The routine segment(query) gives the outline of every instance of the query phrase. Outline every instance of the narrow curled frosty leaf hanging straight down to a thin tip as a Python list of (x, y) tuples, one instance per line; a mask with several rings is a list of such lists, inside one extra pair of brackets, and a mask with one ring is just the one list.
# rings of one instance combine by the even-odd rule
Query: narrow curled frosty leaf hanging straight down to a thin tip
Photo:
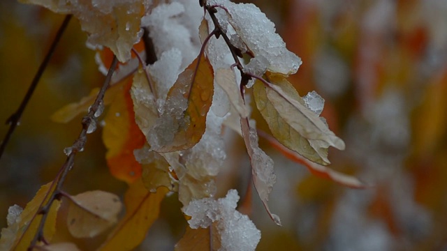
[(273, 172), (273, 160), (258, 146), (258, 134), (254, 128), (250, 128), (248, 119), (240, 119), (242, 137), (244, 138), (247, 153), (249, 153), (253, 183), (259, 198), (263, 201), (265, 210), (277, 225), (281, 225), (278, 215), (270, 212), (268, 207), (268, 195), (272, 192), (277, 176)]

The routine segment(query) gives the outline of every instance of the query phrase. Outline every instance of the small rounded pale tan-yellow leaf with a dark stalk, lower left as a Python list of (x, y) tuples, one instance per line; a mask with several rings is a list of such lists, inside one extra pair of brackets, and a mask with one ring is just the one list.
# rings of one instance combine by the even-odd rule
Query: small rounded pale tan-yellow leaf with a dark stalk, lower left
[(71, 199), (67, 226), (70, 234), (76, 238), (101, 234), (117, 222), (117, 215), (122, 209), (119, 197), (110, 192), (83, 192)]

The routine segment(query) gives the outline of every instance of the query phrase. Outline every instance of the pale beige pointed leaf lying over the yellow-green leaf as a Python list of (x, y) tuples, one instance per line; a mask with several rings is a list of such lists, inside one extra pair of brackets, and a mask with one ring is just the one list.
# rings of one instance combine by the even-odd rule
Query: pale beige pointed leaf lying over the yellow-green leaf
[[(260, 111), (268, 109), (269, 107), (270, 109), (274, 108), (276, 112), (272, 112), (272, 114), (277, 113), (278, 117), (281, 117), (281, 119), (283, 119), (288, 126), (290, 126), (290, 128), (293, 128), (293, 130), (298, 132), (302, 137), (305, 137), (305, 139), (316, 141), (312, 144), (314, 150), (317, 152), (318, 148), (321, 148), (321, 146), (324, 148), (326, 145), (334, 146), (339, 150), (344, 150), (345, 146), (343, 140), (337, 137), (334, 132), (329, 130), (328, 126), (320, 119), (318, 115), (302, 105), (297, 98), (294, 98), (284, 91), (282, 86), (290, 85), (286, 78), (281, 75), (270, 75), (270, 82), (273, 84), (265, 83), (265, 96), (267, 99), (263, 100), (258, 98), (258, 102), (256, 103)], [(260, 90), (258, 89), (258, 91)], [(270, 103), (271, 106), (268, 107), (268, 103)], [(270, 111), (268, 114), (269, 113)], [(273, 128), (276, 129), (279, 127), (273, 126)], [(285, 133), (285, 135), (287, 135), (287, 133)]]

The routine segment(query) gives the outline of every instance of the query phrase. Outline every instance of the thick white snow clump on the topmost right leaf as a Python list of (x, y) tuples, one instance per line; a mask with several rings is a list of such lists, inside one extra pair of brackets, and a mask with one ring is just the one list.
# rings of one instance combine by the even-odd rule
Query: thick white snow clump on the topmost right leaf
[[(255, 57), (244, 67), (246, 72), (258, 76), (267, 70), (284, 75), (296, 73), (301, 59), (286, 49), (286, 43), (276, 33), (274, 24), (258, 7), (251, 3), (237, 4), (227, 0), (208, 1), (208, 4), (226, 7), (228, 22), (253, 52)], [(244, 47), (240, 49), (244, 51)]]

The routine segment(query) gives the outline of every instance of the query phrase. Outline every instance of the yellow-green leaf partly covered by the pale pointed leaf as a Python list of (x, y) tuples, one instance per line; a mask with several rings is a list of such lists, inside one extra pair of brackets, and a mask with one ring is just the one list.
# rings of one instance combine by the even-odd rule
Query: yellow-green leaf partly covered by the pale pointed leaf
[[(284, 93), (290, 98), (297, 100), (302, 104), (302, 98), (298, 95), (298, 92), (287, 81), (275, 82)], [(328, 165), (328, 145), (321, 146), (321, 140), (306, 139), (300, 135), (300, 132), (291, 127), (285, 120), (284, 116), (295, 116), (296, 109), (291, 109), (288, 114), (279, 112), (274, 103), (270, 101), (267, 96), (268, 87), (265, 87), (261, 81), (256, 81), (253, 86), (254, 100), (256, 107), (261, 112), (263, 118), (267, 122), (272, 135), (278, 139), (281, 144), (288, 147), (297, 153), (300, 153), (305, 158), (317, 162), (322, 165)], [(286, 102), (283, 100), (283, 102)], [(307, 109), (307, 108), (306, 108)], [(325, 146), (325, 147), (324, 147)]]

